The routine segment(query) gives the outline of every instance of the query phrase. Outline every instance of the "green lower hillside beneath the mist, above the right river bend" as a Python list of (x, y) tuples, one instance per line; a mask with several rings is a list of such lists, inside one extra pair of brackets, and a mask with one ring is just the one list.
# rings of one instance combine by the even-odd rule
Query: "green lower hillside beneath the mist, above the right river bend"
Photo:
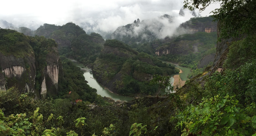
[[(204, 56), (216, 53), (216, 42), (217, 32), (196, 32), (194, 34), (183, 34), (174, 38), (156, 40), (152, 44), (153, 46), (158, 46), (156, 54), (159, 59), (178, 63), (180, 66), (199, 71), (196, 69), (200, 60)], [(208, 62), (208, 65), (212, 64), (214, 56), (210, 60), (211, 62)]]

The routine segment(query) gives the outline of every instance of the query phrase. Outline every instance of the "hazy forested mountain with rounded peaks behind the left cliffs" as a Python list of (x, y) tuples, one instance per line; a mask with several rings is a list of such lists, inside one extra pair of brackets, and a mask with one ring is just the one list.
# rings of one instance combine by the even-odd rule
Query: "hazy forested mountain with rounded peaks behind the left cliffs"
[(54, 39), (61, 55), (79, 60), (85, 65), (95, 61), (105, 42), (99, 34), (88, 35), (72, 22), (63, 26), (44, 24), (34, 31), (34, 35)]

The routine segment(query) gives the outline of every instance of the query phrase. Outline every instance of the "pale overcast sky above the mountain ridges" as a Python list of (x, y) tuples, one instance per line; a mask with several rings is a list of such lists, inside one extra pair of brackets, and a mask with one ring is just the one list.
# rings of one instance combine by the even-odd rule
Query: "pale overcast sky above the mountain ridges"
[[(183, 0), (1, 0), (0, 20), (32, 30), (44, 23), (76, 23), (85, 31), (114, 31), (118, 26), (164, 14), (178, 15)], [(201, 12), (209, 16), (215, 5)], [(181, 20), (192, 17), (186, 15)], [(0, 23), (0, 27), (5, 28)]]

